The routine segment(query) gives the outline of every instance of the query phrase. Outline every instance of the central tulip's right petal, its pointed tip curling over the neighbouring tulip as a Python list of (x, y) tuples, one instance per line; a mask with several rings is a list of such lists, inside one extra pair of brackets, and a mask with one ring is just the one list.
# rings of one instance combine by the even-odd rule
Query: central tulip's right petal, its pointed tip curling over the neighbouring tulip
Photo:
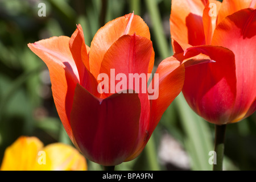
[(150, 100), (151, 113), (149, 127), (146, 131), (147, 135), (144, 138), (144, 142), (137, 147), (137, 150), (130, 156), (129, 160), (141, 154), (164, 111), (181, 92), (185, 78), (185, 68), (195, 64), (208, 63), (209, 61), (209, 56), (206, 55), (199, 54), (194, 57), (185, 57), (183, 53), (179, 53), (168, 57), (159, 64), (155, 73), (158, 74), (158, 79), (155, 75), (149, 86), (149, 88), (158, 86), (158, 90), (155, 89), (155, 95), (152, 97), (154, 99)]

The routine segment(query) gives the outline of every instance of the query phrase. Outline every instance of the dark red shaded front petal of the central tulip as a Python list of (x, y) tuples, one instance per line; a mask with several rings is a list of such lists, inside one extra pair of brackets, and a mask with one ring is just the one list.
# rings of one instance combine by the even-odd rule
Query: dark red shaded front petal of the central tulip
[(71, 127), (86, 158), (104, 166), (115, 166), (134, 150), (140, 114), (136, 93), (116, 93), (99, 100), (77, 84)]

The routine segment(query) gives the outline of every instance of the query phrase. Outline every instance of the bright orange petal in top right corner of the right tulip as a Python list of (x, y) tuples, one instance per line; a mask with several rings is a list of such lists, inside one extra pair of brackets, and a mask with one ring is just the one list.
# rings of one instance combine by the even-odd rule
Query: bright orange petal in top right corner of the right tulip
[(248, 7), (256, 8), (255, 0), (224, 0), (218, 13), (217, 24), (219, 24), (226, 16)]

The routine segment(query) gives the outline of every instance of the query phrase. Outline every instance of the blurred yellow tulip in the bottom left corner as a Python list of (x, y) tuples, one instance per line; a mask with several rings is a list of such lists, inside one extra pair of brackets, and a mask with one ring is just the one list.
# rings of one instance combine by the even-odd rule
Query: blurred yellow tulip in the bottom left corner
[(63, 143), (44, 144), (36, 137), (19, 137), (7, 147), (1, 171), (84, 171), (84, 156)]

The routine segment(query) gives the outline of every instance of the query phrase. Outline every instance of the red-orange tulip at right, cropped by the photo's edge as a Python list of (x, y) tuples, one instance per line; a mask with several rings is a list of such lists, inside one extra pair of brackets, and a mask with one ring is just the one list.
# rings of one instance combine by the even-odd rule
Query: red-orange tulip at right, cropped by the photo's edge
[(172, 1), (175, 53), (216, 63), (186, 68), (183, 94), (201, 117), (222, 125), (256, 110), (256, 1)]

